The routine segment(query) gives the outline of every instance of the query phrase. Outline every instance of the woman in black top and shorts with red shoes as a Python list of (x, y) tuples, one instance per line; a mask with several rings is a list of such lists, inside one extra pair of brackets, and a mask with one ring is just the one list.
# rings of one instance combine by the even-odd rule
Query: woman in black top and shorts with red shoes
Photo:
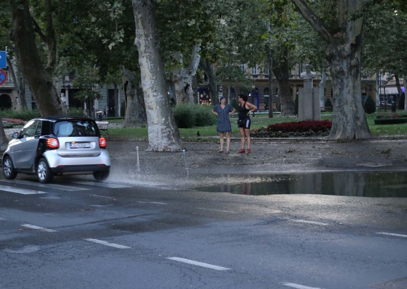
[(245, 138), (247, 141), (247, 151), (250, 154), (250, 112), (257, 110), (257, 107), (250, 102), (247, 102), (247, 95), (240, 94), (238, 96), (238, 127), (240, 132), (240, 142), (242, 148), (238, 151), (239, 154), (245, 153)]

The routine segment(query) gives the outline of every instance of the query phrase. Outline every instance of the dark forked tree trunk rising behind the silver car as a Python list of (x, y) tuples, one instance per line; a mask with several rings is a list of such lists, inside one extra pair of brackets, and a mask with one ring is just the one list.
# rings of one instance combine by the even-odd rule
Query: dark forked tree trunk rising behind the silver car
[[(46, 3), (49, 3), (46, 1)], [(47, 67), (41, 62), (34, 36), (33, 18), (26, 0), (10, 0), (12, 7), (11, 39), (15, 44), (15, 52), (21, 61), (21, 72), (24, 75), (41, 115), (64, 114), (59, 92), (53, 82), (54, 57), (56, 57), (56, 38), (52, 21), (47, 21), (48, 46)], [(47, 8), (49, 8), (47, 6)], [(49, 15), (48, 15), (49, 16)]]

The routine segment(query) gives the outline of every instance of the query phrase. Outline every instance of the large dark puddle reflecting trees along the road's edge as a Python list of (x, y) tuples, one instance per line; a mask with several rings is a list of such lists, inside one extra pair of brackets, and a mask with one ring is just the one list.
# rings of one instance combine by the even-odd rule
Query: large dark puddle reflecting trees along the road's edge
[(195, 188), (246, 195), (322, 194), (407, 197), (407, 172), (307, 172), (303, 174), (223, 175), (223, 184)]

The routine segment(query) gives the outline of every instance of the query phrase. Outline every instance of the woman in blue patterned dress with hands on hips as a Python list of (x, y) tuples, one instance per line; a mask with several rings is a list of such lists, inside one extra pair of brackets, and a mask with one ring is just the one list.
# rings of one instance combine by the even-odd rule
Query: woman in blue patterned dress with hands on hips
[(212, 113), (218, 116), (218, 124), (216, 130), (219, 132), (220, 150), (218, 153), (223, 153), (223, 138), (226, 135), (226, 151), (229, 153), (230, 146), (230, 132), (232, 131), (232, 125), (230, 124), (229, 115), (234, 114), (236, 109), (230, 104), (226, 103), (226, 98), (222, 96), (220, 98), (220, 104), (215, 105), (212, 109)]

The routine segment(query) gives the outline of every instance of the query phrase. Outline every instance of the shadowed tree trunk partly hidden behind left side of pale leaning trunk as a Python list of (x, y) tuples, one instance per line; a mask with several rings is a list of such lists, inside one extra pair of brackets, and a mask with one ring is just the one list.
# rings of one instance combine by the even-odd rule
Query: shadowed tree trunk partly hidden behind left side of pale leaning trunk
[(132, 71), (122, 67), (122, 80), (126, 97), (124, 125), (146, 124), (146, 107), (144, 107), (142, 90), (138, 90), (140, 84), (139, 77), (136, 77)]

